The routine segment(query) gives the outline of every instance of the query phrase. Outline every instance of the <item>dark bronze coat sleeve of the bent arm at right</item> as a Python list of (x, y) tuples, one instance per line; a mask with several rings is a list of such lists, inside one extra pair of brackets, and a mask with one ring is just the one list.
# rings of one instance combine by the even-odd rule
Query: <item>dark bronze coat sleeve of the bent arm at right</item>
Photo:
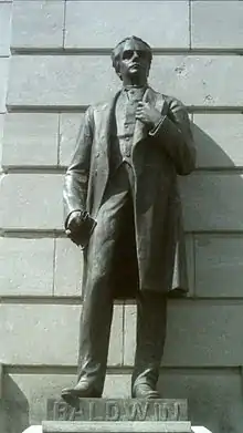
[[(167, 102), (166, 102), (167, 103)], [(149, 135), (156, 137), (169, 154), (179, 175), (190, 174), (196, 166), (196, 148), (188, 112), (183, 104), (172, 99), (168, 112)]]

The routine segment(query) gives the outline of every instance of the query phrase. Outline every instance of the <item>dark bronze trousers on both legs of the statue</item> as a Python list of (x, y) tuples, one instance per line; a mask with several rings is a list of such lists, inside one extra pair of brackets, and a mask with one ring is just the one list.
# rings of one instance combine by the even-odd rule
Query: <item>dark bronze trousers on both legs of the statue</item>
[[(77, 380), (87, 381), (99, 395), (104, 389), (114, 307), (109, 269), (120, 225), (128, 209), (133, 212), (134, 190), (133, 168), (124, 162), (107, 183), (97, 225), (89, 239)], [(167, 300), (163, 293), (142, 288), (137, 291), (136, 300), (137, 332), (131, 389), (139, 383), (155, 388), (166, 339)]]

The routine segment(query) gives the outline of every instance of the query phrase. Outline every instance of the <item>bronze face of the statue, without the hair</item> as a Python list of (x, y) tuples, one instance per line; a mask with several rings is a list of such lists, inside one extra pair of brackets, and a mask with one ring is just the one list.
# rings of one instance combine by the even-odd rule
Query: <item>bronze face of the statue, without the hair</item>
[(125, 42), (124, 50), (120, 52), (119, 75), (123, 81), (126, 78), (133, 78), (139, 82), (147, 81), (149, 74), (149, 58), (145, 45), (134, 39)]

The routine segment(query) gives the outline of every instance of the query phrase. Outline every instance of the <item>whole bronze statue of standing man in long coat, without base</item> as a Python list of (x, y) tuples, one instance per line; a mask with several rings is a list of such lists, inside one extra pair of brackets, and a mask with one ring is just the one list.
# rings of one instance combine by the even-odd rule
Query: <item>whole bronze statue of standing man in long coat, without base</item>
[(136, 37), (113, 50), (123, 87), (113, 101), (87, 109), (65, 176), (65, 228), (83, 247), (85, 274), (78, 380), (62, 391), (67, 401), (103, 393), (114, 290), (126, 259), (133, 261), (127, 285), (133, 281), (137, 298), (131, 395), (159, 398), (166, 298), (180, 231), (177, 175), (191, 173), (196, 156), (184, 106), (148, 85), (151, 58)]

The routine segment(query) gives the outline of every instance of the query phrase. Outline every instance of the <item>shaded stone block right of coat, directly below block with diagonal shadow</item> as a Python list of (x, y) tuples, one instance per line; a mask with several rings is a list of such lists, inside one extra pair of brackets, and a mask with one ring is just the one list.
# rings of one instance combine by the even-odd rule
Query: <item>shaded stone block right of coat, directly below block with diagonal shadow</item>
[(242, 175), (198, 172), (180, 186), (187, 231), (243, 229)]

